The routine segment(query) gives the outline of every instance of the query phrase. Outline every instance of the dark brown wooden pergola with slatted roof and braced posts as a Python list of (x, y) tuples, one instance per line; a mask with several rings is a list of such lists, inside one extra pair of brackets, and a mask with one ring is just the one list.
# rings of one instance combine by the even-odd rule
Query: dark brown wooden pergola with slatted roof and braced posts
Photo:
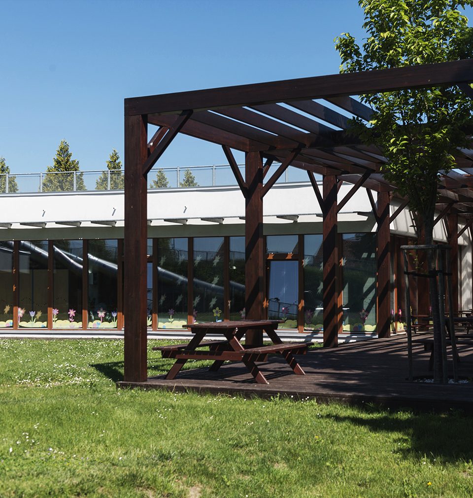
[[(388, 337), (389, 224), (408, 205), (408, 199), (402, 199), (390, 214), (395, 185), (380, 173), (386, 161), (382, 151), (350, 135), (348, 118), (340, 110), (368, 121), (371, 110), (352, 96), (458, 85), (473, 97), (470, 82), (473, 60), (461, 60), (125, 99), (124, 380), (147, 379), (147, 174), (178, 133), (221, 145), (245, 198), (248, 319), (262, 319), (265, 313), (264, 196), (288, 166), (307, 171), (323, 213), (324, 346), (334, 347), (342, 331), (337, 213), (359, 187), (366, 187), (377, 223), (377, 331), (379, 337)], [(158, 126), (149, 141), (148, 124)], [(245, 152), (245, 178), (232, 149)], [(273, 162), (280, 166), (268, 178)], [(451, 171), (441, 179), (436, 222), (449, 215), (454, 246), (473, 222), (472, 162), (472, 149), (459, 150), (457, 166), (462, 172)], [(322, 192), (315, 173), (323, 176)], [(353, 187), (338, 202), (342, 182)], [(377, 192), (376, 200), (371, 191)], [(457, 234), (459, 216), (466, 224)], [(246, 335), (247, 344), (261, 342), (260, 333)]]

